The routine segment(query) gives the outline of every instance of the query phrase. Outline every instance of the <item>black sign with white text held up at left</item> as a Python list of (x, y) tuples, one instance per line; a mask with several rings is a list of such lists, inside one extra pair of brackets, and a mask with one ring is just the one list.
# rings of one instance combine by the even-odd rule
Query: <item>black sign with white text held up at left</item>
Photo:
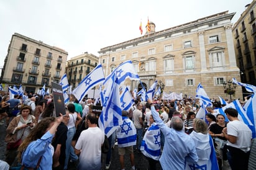
[(55, 108), (56, 117), (59, 117), (60, 114), (65, 115), (65, 103), (62, 91), (62, 85), (52, 82), (52, 95), (53, 103)]

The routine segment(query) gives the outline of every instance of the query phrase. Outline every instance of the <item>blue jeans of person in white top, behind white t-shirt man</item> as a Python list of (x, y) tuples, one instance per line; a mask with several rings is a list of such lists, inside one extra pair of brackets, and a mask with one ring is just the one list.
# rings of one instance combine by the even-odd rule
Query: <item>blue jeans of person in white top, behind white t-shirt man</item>
[(73, 136), (76, 133), (76, 128), (75, 127), (71, 127), (68, 129), (68, 133), (66, 134), (66, 158), (65, 158), (65, 166), (64, 169), (68, 168), (68, 160), (69, 158), (72, 161), (76, 161), (78, 160), (78, 156), (75, 154), (75, 150), (73, 148), (73, 146), (71, 145), (71, 141)]

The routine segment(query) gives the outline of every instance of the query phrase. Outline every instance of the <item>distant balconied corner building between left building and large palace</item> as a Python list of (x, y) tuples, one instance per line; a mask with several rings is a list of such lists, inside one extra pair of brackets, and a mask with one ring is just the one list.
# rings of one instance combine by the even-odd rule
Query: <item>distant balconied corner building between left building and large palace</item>
[(99, 57), (88, 52), (74, 56), (66, 63), (66, 75), (72, 87), (76, 87), (99, 63)]

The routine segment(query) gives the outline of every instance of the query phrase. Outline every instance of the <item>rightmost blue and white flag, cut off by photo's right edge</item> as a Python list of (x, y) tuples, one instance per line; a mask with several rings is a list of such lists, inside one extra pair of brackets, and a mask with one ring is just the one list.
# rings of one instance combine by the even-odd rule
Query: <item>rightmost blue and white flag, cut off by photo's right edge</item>
[[(245, 89), (248, 92), (253, 92), (250, 99), (245, 103), (243, 108), (245, 109), (246, 115), (249, 117), (250, 121), (252, 122), (252, 125), (247, 124), (247, 126), (252, 130), (252, 138), (256, 137), (256, 86), (253, 86), (251, 84), (245, 84), (238, 82), (235, 78), (232, 79), (233, 83), (238, 84), (239, 86), (244, 86)], [(246, 123), (245, 123), (246, 124)]]

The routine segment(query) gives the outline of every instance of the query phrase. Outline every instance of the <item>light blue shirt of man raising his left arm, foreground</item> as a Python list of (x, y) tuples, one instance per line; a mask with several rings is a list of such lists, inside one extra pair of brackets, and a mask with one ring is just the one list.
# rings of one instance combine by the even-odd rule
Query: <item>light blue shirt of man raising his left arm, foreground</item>
[(198, 155), (193, 139), (183, 130), (177, 131), (167, 127), (160, 119), (155, 107), (151, 106), (153, 119), (158, 124), (161, 132), (165, 136), (163, 153), (159, 159), (160, 164), (165, 169), (185, 169), (185, 161), (197, 163)]

